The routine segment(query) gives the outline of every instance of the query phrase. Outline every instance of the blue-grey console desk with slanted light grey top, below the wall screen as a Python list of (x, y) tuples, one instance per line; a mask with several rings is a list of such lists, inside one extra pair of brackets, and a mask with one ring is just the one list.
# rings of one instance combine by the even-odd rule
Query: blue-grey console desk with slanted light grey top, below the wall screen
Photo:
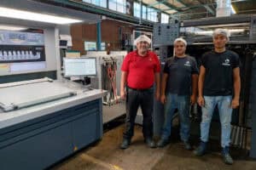
[(102, 139), (106, 91), (48, 78), (6, 85), (0, 88), (1, 169), (43, 169)]

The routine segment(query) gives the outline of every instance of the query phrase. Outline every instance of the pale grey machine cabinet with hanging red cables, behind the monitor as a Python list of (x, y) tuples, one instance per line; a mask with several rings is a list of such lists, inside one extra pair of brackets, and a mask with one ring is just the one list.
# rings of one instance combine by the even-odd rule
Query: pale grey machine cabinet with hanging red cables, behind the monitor
[(108, 123), (125, 115), (125, 103), (119, 97), (121, 65), (126, 51), (90, 51), (82, 57), (96, 58), (97, 77), (90, 78), (91, 88), (108, 91), (103, 102), (103, 123)]

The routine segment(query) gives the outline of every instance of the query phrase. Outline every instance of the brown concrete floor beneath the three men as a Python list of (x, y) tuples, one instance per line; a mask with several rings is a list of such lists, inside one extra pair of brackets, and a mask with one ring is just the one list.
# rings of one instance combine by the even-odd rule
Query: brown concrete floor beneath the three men
[[(104, 133), (100, 142), (79, 151), (61, 161), (52, 170), (255, 170), (256, 161), (247, 158), (245, 150), (233, 148), (231, 155), (235, 163), (225, 165), (220, 155), (218, 141), (210, 142), (210, 152), (196, 157), (192, 151), (184, 150), (178, 135), (165, 148), (150, 149), (143, 143), (142, 127), (136, 126), (130, 148), (120, 150), (124, 124)], [(177, 130), (176, 130), (177, 131)], [(173, 131), (175, 132), (175, 131)], [(192, 139), (197, 141), (197, 137)], [(195, 146), (194, 142), (194, 146)]]

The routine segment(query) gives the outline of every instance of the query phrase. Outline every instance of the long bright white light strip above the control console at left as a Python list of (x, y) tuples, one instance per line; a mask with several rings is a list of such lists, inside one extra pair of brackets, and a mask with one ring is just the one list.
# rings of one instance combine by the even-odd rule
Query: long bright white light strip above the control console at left
[(3, 8), (0, 7), (0, 16), (21, 20), (35, 20), (39, 22), (47, 22), (52, 24), (73, 24), (77, 22), (82, 22), (82, 20), (74, 20), (70, 18), (54, 16), (49, 14), (39, 14), (28, 12), (25, 10), (19, 10), (14, 8)]

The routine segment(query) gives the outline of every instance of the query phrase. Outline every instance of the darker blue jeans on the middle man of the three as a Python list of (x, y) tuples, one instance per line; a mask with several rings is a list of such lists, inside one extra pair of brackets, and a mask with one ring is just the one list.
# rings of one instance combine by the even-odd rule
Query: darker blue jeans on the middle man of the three
[(189, 95), (166, 94), (165, 122), (162, 128), (162, 139), (168, 139), (172, 131), (172, 116), (177, 109), (180, 118), (180, 137), (183, 141), (189, 140)]

